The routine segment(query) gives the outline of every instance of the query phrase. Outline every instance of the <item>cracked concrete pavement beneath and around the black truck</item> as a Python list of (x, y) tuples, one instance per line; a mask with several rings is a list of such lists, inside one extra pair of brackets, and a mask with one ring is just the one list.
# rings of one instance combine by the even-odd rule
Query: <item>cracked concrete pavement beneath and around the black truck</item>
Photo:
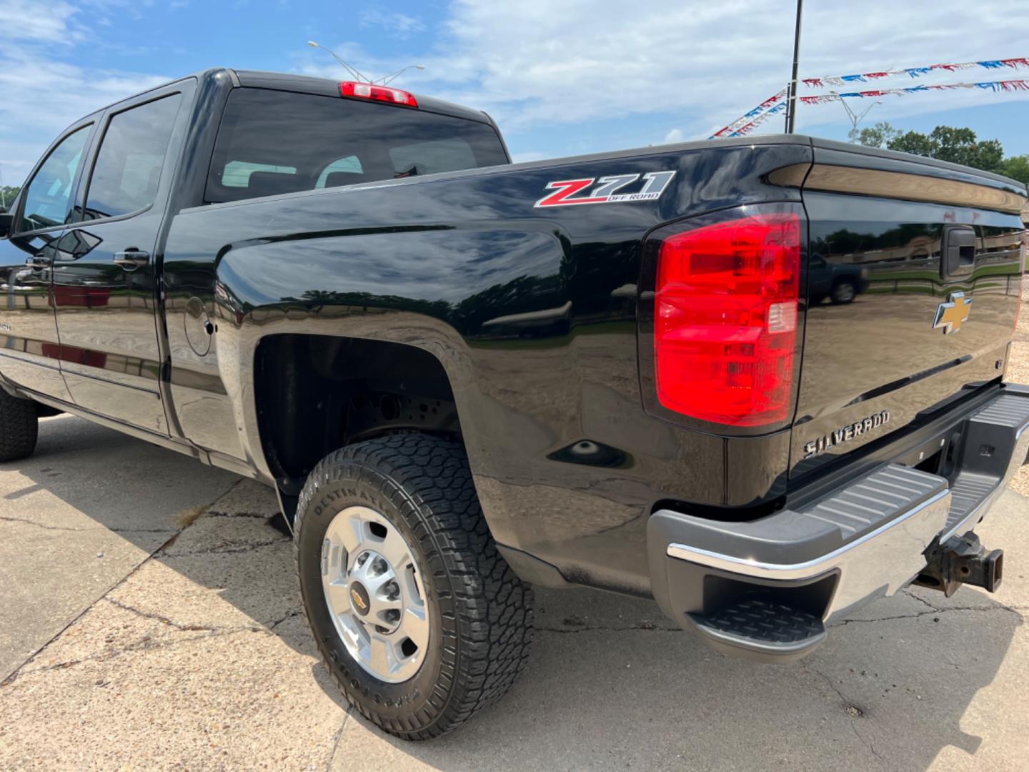
[(878, 601), (794, 665), (714, 654), (649, 602), (538, 591), (525, 677), (421, 744), (346, 709), (300, 615), (289, 540), (268, 525), (275, 508), (254, 483), (79, 419), (44, 421), (38, 454), (0, 468), (0, 769), (1029, 760), (1029, 499), (1013, 491), (978, 529), (1005, 550), (997, 595)]

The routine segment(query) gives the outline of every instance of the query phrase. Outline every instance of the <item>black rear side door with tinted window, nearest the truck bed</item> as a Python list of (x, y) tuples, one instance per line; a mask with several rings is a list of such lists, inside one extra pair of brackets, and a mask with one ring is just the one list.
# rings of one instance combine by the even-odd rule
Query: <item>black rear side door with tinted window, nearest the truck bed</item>
[[(105, 115), (54, 261), (61, 370), (75, 402), (168, 434), (161, 397), (155, 249), (174, 176), (182, 84)], [(181, 128), (181, 127), (180, 127)]]

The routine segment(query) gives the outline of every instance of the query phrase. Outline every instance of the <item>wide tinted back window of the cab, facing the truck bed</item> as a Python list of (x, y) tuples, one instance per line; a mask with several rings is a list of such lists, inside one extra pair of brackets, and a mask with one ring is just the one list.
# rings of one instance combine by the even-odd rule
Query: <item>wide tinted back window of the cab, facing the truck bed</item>
[(341, 97), (236, 89), (218, 130), (205, 201), (506, 163), (489, 124)]

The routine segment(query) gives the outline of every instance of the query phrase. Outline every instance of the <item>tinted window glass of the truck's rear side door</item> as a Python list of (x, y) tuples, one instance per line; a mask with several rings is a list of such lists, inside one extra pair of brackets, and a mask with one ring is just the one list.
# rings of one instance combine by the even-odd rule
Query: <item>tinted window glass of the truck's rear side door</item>
[(181, 99), (165, 97), (111, 118), (93, 168), (84, 219), (117, 217), (153, 203)]

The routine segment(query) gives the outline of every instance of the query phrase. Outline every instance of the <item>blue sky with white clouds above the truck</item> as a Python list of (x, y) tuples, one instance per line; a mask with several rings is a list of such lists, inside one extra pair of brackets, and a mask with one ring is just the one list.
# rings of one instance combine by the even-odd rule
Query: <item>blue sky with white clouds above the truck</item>
[[(1029, 57), (1029, 0), (808, 0), (802, 77)], [(65, 126), (214, 65), (339, 77), (310, 38), (396, 85), (489, 111), (516, 160), (707, 137), (789, 77), (793, 0), (0, 0), (0, 173), (19, 183)], [(967, 70), (920, 80), (1024, 78)], [(864, 87), (912, 84), (903, 78)], [(805, 90), (813, 95), (825, 90)], [(1029, 152), (1029, 92), (885, 97), (866, 120), (969, 126)], [(866, 106), (855, 104), (855, 107)], [(839, 104), (797, 130), (845, 138)], [(761, 132), (778, 132), (769, 120)]]

